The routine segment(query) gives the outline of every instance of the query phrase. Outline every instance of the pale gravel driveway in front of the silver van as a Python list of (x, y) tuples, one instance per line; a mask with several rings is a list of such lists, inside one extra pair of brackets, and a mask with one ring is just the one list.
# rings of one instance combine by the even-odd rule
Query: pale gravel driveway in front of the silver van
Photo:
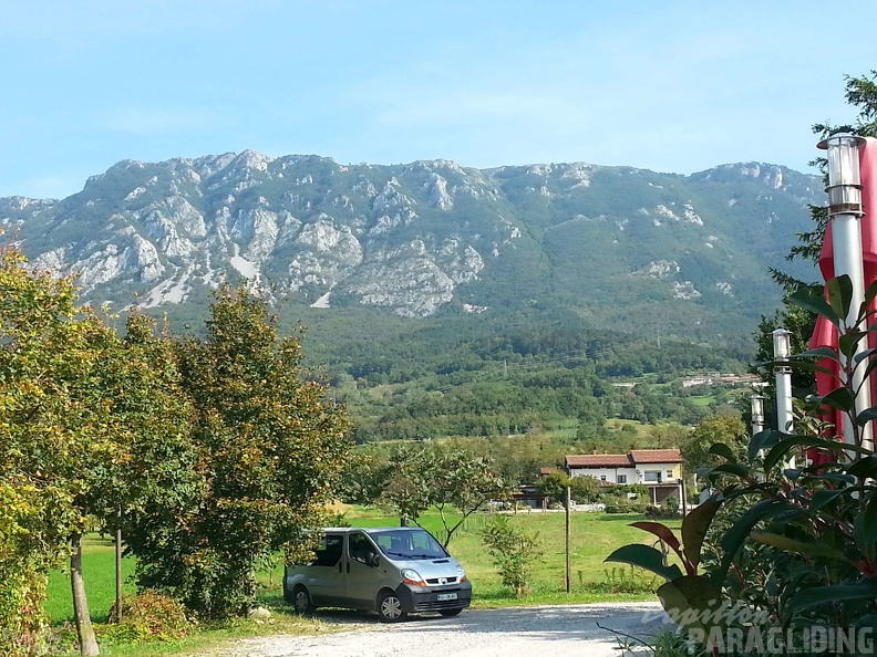
[[(612, 629), (649, 638), (663, 627), (657, 603), (606, 603), (464, 611), (456, 618), (420, 616), (383, 625), (372, 615), (319, 614), (351, 628), (319, 636), (241, 639), (235, 657), (618, 657)], [(603, 628), (598, 627), (601, 625)]]

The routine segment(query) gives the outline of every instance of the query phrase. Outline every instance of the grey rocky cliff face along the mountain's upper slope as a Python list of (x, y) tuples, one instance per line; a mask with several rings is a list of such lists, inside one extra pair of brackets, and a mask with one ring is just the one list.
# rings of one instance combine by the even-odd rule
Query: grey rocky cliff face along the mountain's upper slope
[[(766, 281), (821, 198), (814, 176), (759, 164), (683, 177), (248, 150), (121, 161), (63, 200), (0, 199), (0, 223), (19, 227), (34, 267), (79, 272), (84, 298), (117, 307), (184, 303), (243, 277), (316, 307), (422, 317), (544, 295), (587, 307), (611, 290), (729, 299)], [(582, 278), (601, 290), (590, 300)]]

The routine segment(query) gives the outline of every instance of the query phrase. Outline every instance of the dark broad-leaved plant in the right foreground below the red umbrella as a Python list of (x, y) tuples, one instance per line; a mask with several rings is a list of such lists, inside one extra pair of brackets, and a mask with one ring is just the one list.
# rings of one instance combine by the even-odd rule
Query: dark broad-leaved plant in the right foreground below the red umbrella
[[(791, 365), (832, 374), (836, 387), (806, 400), (808, 415), (799, 423), (799, 434), (762, 431), (743, 455), (725, 444), (713, 445), (710, 451), (722, 462), (705, 476), (720, 492), (683, 520), (682, 541), (659, 523), (633, 523), (656, 535), (683, 570), (646, 545), (627, 545), (608, 557), (663, 576), (658, 596), (682, 628), (709, 636), (714, 627), (740, 623), (731, 609), (741, 606), (755, 616), (755, 624), (793, 633), (813, 625), (874, 626), (877, 455), (864, 428), (877, 418), (877, 408), (856, 406), (854, 382), (857, 369), (863, 377), (877, 369), (877, 352), (859, 348), (871, 331), (868, 307), (875, 298), (877, 283), (850, 315), (847, 277), (828, 281), (825, 296), (808, 290), (792, 295), (793, 303), (832, 322), (839, 341), (837, 350), (807, 351)], [(830, 363), (835, 366), (828, 367)], [(821, 408), (845, 414), (852, 441), (823, 437), (825, 426), (816, 419)], [(827, 460), (805, 462), (812, 450)]]

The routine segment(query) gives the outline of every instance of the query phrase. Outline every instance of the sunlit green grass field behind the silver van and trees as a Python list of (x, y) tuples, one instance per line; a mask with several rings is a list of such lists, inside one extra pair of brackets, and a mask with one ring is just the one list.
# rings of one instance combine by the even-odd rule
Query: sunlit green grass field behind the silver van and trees
[[(344, 515), (353, 526), (398, 525), (396, 518), (389, 518), (374, 509), (349, 508)], [(576, 512), (570, 522), (570, 572), (571, 593), (566, 593), (565, 514), (563, 512), (519, 511), (509, 515), (514, 524), (529, 533), (538, 533), (541, 555), (533, 567), (532, 593), (526, 597), (514, 597), (501, 584), (491, 557), (479, 538), (479, 529), (488, 522), (489, 514), (476, 514), (466, 525), (457, 530), (448, 549), (466, 569), (473, 583), (474, 607), (494, 607), (526, 604), (584, 603), (622, 599), (654, 599), (649, 592), (652, 577), (621, 564), (606, 564), (603, 560), (616, 548), (627, 543), (651, 543), (650, 534), (628, 526), (640, 520), (639, 515), (609, 515), (605, 513)], [(429, 531), (441, 535), (441, 521), (435, 513), (427, 513), (420, 522)], [(678, 529), (680, 521), (670, 521)], [(115, 565), (113, 544), (96, 535), (86, 539), (83, 553), (83, 572), (92, 619), (106, 620), (115, 599)], [(134, 572), (134, 562), (125, 559), (123, 573), (126, 577), (125, 592), (134, 592), (127, 581)], [(272, 572), (259, 574), (260, 598), (271, 607), (282, 606), (282, 565)], [(659, 583), (654, 582), (657, 587)], [(615, 591), (615, 592), (613, 592)], [(65, 572), (52, 573), (49, 578), (47, 613), (54, 624), (72, 620), (70, 580)]]

